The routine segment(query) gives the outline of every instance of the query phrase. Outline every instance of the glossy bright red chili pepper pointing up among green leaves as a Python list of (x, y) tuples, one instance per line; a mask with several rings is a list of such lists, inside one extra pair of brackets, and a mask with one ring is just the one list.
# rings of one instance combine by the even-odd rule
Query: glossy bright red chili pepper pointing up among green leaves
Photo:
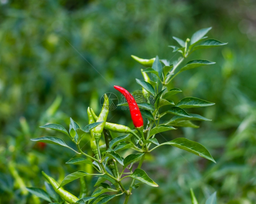
[(130, 113), (131, 113), (131, 117), (132, 117), (132, 122), (134, 124), (134, 126), (137, 127), (142, 127), (143, 126), (143, 119), (141, 116), (141, 111), (135, 101), (135, 99), (133, 98), (133, 96), (123, 87), (121, 86), (114, 86), (114, 88), (116, 90), (118, 90), (119, 92), (121, 92), (121, 94), (124, 95), (124, 97), (126, 98), (126, 101), (129, 105), (129, 109), (130, 109)]

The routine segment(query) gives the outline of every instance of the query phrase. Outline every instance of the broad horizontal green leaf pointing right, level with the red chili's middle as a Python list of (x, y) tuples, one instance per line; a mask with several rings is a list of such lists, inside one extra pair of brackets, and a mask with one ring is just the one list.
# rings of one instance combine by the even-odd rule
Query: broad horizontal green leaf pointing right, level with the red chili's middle
[(194, 108), (194, 107), (212, 106), (214, 104), (215, 103), (208, 102), (200, 98), (186, 97), (186, 98), (182, 98), (176, 104), (176, 106), (180, 108)]

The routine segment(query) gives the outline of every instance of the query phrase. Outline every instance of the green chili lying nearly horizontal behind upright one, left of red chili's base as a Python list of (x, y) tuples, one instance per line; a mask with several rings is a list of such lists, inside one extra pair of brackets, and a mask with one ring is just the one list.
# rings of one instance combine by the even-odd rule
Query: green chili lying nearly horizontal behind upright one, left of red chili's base
[[(93, 116), (93, 118), (95, 120), (98, 119), (98, 116), (94, 113), (93, 109), (90, 109), (90, 112)], [(131, 133), (132, 135), (134, 135), (135, 137), (137, 137), (138, 139), (139, 136), (137, 136), (131, 128), (125, 126), (125, 125), (120, 125), (120, 124), (115, 124), (115, 123), (111, 123), (111, 122), (106, 122), (105, 123), (105, 126), (104, 126), (104, 129), (106, 130), (110, 130), (112, 132), (115, 132), (115, 133)]]

